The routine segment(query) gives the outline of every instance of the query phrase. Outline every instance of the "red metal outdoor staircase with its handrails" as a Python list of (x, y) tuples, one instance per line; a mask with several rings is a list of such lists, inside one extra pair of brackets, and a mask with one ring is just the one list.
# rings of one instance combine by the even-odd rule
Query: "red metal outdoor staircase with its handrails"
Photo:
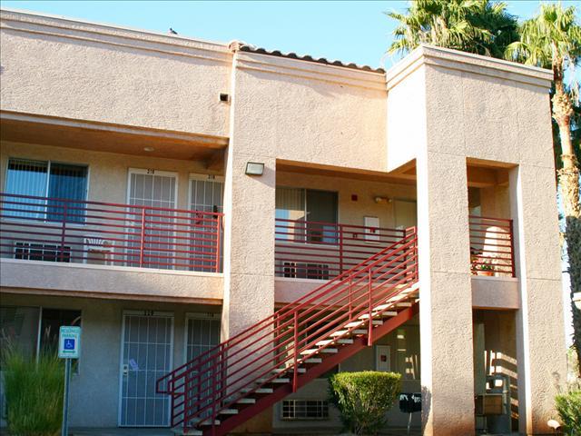
[[(157, 381), (171, 425), (224, 435), (418, 312), (415, 228)], [(371, 321), (371, 322), (369, 322)]]

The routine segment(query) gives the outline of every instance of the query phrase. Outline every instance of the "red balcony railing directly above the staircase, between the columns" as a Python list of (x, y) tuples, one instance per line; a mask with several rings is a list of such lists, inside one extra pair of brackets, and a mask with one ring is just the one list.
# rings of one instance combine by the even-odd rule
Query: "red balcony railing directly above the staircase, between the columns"
[(276, 219), (275, 274), (330, 280), (406, 234), (404, 230)]

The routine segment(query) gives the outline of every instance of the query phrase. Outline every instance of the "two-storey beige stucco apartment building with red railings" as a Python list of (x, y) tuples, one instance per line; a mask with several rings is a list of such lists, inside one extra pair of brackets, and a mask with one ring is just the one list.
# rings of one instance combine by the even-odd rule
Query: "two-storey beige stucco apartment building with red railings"
[(551, 72), (0, 18), (0, 340), (82, 326), (73, 427), (339, 431), (326, 378), (378, 370), (423, 434), (483, 428), (495, 385), (487, 425), (549, 432)]

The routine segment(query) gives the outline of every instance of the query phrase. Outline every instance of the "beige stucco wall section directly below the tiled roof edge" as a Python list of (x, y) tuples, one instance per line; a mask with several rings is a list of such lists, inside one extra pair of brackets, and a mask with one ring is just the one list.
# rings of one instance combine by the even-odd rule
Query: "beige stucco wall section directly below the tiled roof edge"
[(244, 52), (235, 68), (236, 104), (256, 120), (234, 129), (241, 152), (385, 171), (383, 74)]

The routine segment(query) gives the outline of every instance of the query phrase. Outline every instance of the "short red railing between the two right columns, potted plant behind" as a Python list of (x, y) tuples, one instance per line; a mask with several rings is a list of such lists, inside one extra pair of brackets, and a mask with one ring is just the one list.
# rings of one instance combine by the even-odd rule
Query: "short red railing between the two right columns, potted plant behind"
[(468, 223), (472, 273), (516, 277), (512, 220), (470, 215)]

